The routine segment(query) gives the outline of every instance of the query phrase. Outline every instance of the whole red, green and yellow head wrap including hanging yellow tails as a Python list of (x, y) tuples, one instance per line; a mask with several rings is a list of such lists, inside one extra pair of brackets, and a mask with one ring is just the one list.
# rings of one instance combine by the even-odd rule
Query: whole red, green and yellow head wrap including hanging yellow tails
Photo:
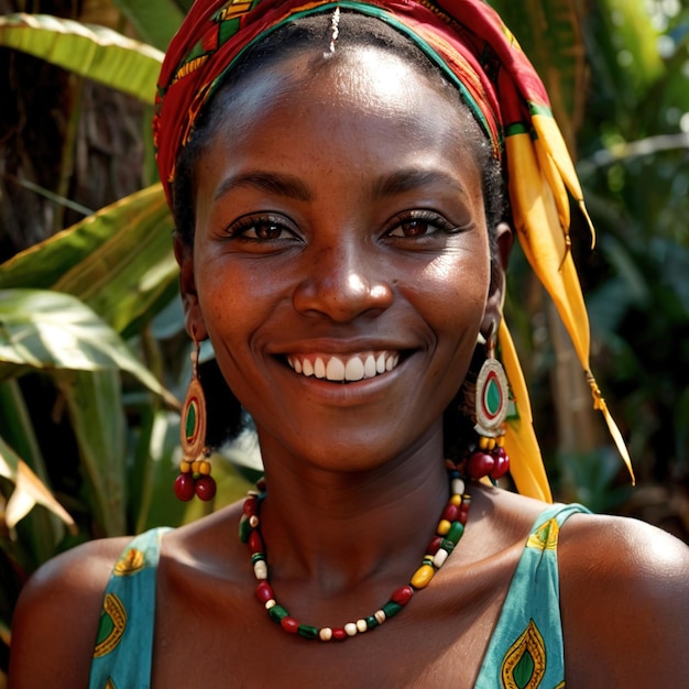
[[(461, 91), (506, 165), (513, 225), (524, 252), (553, 297), (600, 409), (631, 471), (624, 441), (589, 365), (589, 320), (571, 258), (572, 196), (582, 192), (545, 87), (500, 17), (482, 0), (197, 0), (163, 64), (154, 138), (168, 201), (175, 164), (214, 88), (242, 52), (285, 22), (336, 8), (372, 15), (407, 35)], [(589, 221), (590, 223), (590, 221)], [(550, 501), (528, 393), (510, 331), (499, 342), (518, 417), (505, 448), (517, 490)]]

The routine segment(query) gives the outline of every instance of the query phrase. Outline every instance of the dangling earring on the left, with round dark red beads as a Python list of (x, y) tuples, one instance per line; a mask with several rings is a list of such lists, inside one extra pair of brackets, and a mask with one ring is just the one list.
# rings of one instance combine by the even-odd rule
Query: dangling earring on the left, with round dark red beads
[(184, 502), (195, 494), (201, 500), (211, 500), (216, 494), (216, 481), (210, 475), (210, 450), (206, 447), (206, 397), (198, 380), (199, 351), (200, 343), (194, 338), (192, 380), (179, 424), (183, 457), (175, 480), (175, 495)]

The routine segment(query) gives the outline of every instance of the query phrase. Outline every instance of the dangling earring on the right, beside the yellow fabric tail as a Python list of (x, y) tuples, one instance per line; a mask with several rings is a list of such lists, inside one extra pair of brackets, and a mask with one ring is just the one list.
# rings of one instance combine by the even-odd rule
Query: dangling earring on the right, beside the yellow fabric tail
[(507, 417), (510, 389), (502, 364), (495, 359), (495, 331), (493, 322), (486, 341), (486, 357), (477, 378), (474, 430), (479, 447), (468, 458), (464, 471), (472, 479), (490, 475), (497, 480), (510, 470), (510, 458), (503, 447), (503, 424)]

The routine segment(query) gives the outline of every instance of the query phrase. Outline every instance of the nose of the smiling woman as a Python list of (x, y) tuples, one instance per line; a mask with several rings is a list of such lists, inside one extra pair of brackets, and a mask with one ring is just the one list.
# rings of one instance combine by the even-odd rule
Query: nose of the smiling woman
[(371, 247), (338, 243), (308, 256), (304, 277), (293, 295), (295, 309), (347, 322), (390, 307), (393, 289), (381, 256), (376, 260), (372, 255), (374, 251)]

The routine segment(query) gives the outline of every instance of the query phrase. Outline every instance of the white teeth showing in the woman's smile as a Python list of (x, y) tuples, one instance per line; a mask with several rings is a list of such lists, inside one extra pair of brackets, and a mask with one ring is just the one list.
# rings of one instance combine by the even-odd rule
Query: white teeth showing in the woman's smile
[(392, 371), (400, 363), (400, 352), (376, 351), (351, 356), (289, 354), (293, 371), (306, 378), (356, 383)]

